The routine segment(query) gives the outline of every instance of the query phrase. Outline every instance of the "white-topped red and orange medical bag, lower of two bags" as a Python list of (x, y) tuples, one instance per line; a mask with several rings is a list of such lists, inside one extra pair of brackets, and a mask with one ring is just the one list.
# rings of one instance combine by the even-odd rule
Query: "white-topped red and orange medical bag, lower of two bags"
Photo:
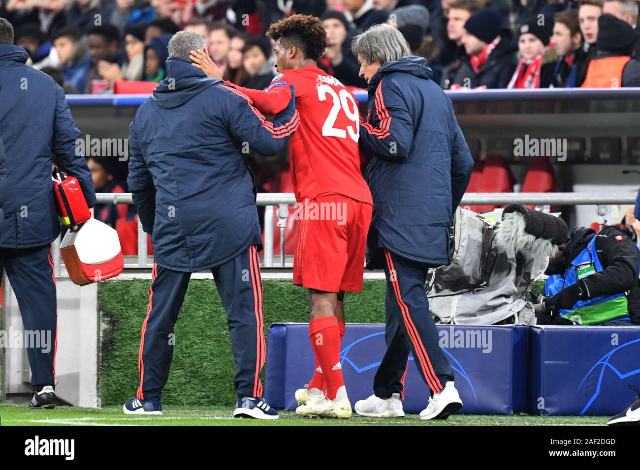
[(80, 286), (114, 278), (124, 268), (118, 233), (96, 219), (68, 231), (60, 254), (69, 278)]

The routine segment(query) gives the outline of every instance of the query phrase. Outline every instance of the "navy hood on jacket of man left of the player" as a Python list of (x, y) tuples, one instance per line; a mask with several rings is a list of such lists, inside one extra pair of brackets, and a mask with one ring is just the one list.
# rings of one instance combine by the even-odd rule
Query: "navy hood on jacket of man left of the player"
[(220, 81), (207, 77), (189, 61), (170, 58), (166, 61), (166, 77), (157, 84), (152, 99), (164, 109), (173, 109)]

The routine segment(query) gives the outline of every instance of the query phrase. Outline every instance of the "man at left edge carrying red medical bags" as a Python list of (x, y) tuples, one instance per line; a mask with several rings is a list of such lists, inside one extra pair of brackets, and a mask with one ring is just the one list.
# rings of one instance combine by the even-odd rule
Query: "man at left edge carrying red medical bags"
[[(50, 334), (51, 347), (29, 347), (34, 408), (54, 407), (56, 281), (49, 254), (60, 235), (51, 181), (51, 154), (79, 181), (95, 205), (91, 173), (76, 139), (65, 93), (49, 77), (27, 67), (27, 52), (13, 45), (13, 27), (0, 18), (0, 137), (6, 159), (4, 217), (0, 219), (0, 275), (4, 270), (20, 307), (25, 331)], [(49, 336), (45, 336), (48, 338)]]

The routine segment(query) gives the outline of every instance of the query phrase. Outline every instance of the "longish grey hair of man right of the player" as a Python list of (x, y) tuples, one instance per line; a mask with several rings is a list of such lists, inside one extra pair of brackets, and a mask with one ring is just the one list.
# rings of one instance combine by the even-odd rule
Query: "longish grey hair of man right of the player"
[(368, 64), (378, 61), (397, 60), (411, 54), (411, 49), (400, 31), (390, 24), (376, 24), (361, 35), (356, 36), (351, 43), (351, 52), (362, 56)]

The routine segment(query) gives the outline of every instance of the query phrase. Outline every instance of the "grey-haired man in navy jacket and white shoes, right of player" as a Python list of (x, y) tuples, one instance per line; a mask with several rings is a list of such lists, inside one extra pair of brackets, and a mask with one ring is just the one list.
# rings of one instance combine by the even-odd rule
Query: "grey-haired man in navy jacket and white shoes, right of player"
[(369, 83), (369, 114), (360, 150), (371, 158), (365, 180), (373, 197), (369, 269), (387, 277), (387, 352), (374, 395), (355, 410), (365, 416), (404, 416), (404, 373), (412, 352), (429, 386), (422, 419), (445, 419), (462, 402), (425, 292), (429, 268), (450, 262), (453, 213), (467, 189), (473, 159), (451, 100), (430, 79), (425, 59), (408, 56), (396, 28), (382, 24), (355, 38), (353, 53)]

